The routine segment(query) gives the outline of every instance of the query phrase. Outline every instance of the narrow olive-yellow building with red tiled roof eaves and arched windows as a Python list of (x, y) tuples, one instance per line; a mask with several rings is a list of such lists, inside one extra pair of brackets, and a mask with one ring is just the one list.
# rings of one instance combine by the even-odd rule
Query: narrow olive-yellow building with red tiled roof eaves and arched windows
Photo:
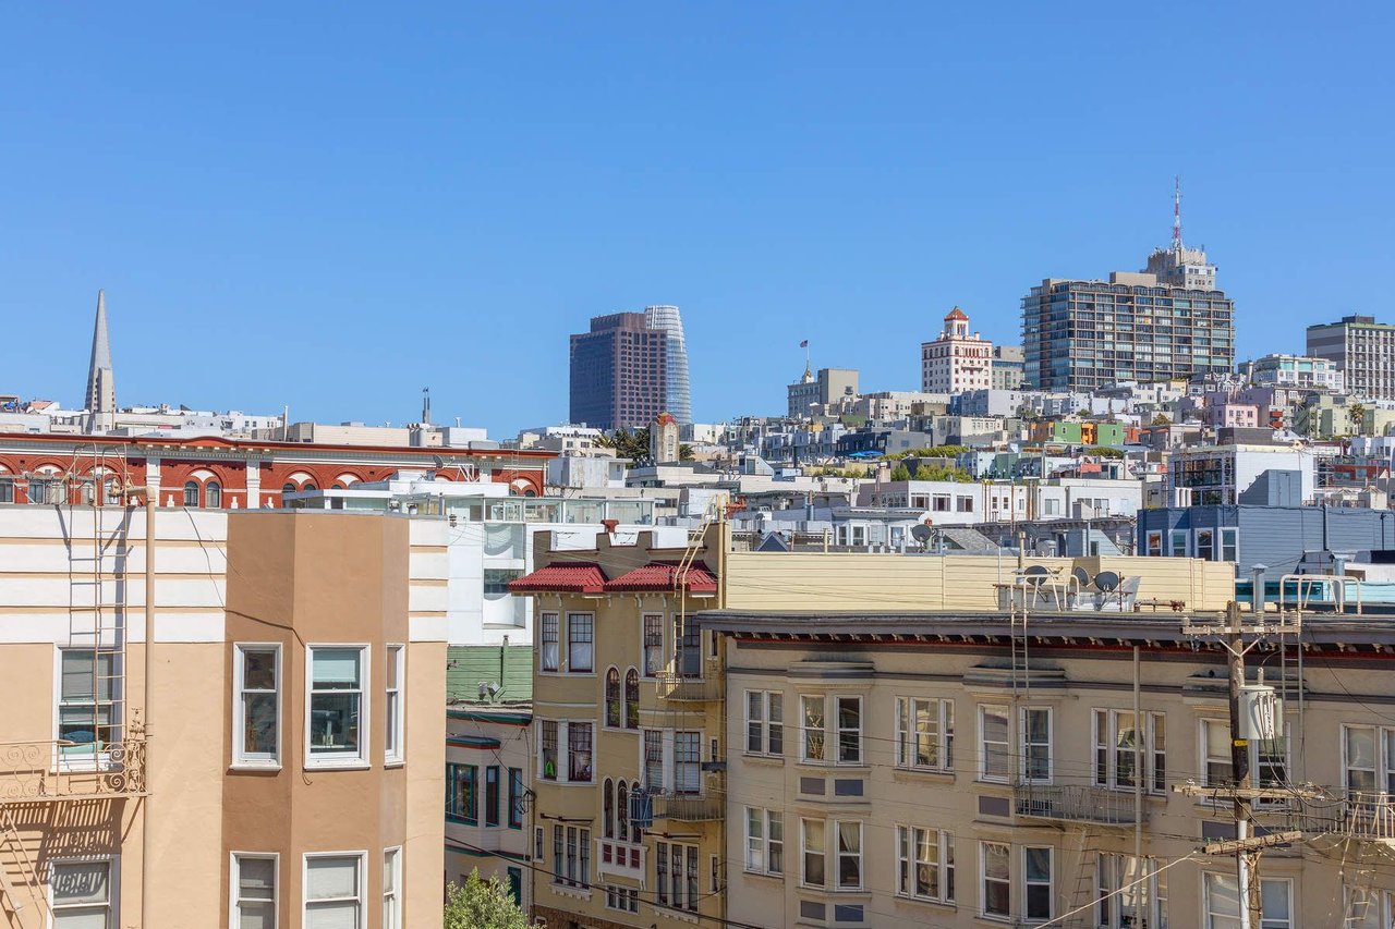
[(531, 912), (552, 929), (724, 916), (721, 665), (693, 618), (714, 538), (601, 533), (511, 584), (537, 601)]

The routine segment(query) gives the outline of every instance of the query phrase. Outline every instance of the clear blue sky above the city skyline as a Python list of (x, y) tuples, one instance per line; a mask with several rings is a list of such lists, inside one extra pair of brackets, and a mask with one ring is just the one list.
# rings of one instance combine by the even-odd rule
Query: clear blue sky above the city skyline
[(511, 435), (682, 307), (693, 410), (915, 389), (961, 305), (1184, 233), (1242, 356), (1395, 318), (1395, 4), (8, 4), (0, 392)]

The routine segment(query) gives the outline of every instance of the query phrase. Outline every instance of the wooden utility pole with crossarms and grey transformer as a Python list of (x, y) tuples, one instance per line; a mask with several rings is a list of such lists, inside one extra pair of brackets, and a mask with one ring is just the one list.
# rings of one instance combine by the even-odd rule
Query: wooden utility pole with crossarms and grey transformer
[[(1256, 799), (1293, 799), (1295, 796), (1311, 795), (1315, 792), (1292, 787), (1269, 788), (1256, 787), (1250, 774), (1250, 737), (1262, 738), (1261, 732), (1253, 732), (1250, 706), (1246, 700), (1244, 656), (1254, 646), (1275, 633), (1297, 632), (1297, 621), (1286, 622), (1282, 611), (1275, 621), (1265, 622), (1264, 614), (1264, 571), (1262, 565), (1256, 565), (1254, 611), (1251, 621), (1242, 619), (1240, 607), (1235, 603), (1226, 607), (1226, 622), (1223, 625), (1197, 624), (1191, 618), (1184, 618), (1182, 630), (1186, 635), (1211, 639), (1226, 650), (1229, 665), (1229, 704), (1230, 704), (1230, 764), (1233, 770), (1233, 785), (1202, 787), (1200, 784), (1177, 784), (1173, 791), (1191, 796), (1229, 796), (1235, 803), (1236, 837), (1235, 841), (1214, 843), (1200, 851), (1208, 855), (1235, 855), (1236, 883), (1239, 889), (1239, 916), (1240, 929), (1260, 929), (1261, 926), (1261, 896), (1260, 896), (1260, 849), (1286, 844), (1302, 837), (1302, 833), (1281, 833), (1269, 836), (1254, 834), (1254, 801)], [(1262, 675), (1262, 670), (1261, 670)], [(1261, 677), (1262, 683), (1262, 677)], [(1302, 686), (1302, 685), (1300, 685)], [(1274, 713), (1274, 738), (1283, 738), (1282, 709), (1276, 703), (1268, 703)]]

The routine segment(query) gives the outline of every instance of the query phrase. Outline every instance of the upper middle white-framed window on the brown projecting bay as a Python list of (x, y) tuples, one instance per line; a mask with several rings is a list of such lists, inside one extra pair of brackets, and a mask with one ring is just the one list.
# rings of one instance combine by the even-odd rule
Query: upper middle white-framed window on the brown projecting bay
[(363, 683), (368, 650), (347, 646), (310, 646), (306, 686), (306, 764), (363, 764), (368, 725)]

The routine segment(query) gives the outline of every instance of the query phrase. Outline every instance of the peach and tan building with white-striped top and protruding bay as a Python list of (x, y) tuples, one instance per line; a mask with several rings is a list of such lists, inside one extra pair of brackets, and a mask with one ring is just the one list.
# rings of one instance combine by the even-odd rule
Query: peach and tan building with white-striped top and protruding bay
[(0, 506), (0, 926), (438, 922), (445, 577), (444, 522)]

